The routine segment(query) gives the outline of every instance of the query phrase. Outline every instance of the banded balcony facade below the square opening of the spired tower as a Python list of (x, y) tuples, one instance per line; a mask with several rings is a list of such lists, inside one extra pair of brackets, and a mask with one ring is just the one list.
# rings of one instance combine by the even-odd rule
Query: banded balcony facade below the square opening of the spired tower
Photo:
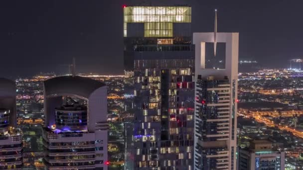
[[(228, 169), (230, 135), (230, 84), (226, 78), (198, 76), (196, 82), (195, 167), (198, 170)], [(232, 151), (234, 152), (234, 151)], [(233, 157), (233, 156), (232, 156)]]

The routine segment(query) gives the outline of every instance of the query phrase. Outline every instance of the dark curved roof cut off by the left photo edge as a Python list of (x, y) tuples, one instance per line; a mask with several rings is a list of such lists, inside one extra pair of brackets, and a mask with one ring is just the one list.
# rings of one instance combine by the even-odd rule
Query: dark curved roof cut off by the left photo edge
[(16, 95), (16, 83), (12, 80), (0, 78), (0, 96)]

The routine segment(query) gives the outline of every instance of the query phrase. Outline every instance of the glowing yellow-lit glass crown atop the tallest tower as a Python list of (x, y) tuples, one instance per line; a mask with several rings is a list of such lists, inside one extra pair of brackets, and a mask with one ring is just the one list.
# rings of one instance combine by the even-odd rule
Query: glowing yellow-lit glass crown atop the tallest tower
[(144, 23), (144, 37), (172, 37), (172, 23), (190, 23), (189, 6), (128, 6), (124, 8), (124, 37), (127, 23)]

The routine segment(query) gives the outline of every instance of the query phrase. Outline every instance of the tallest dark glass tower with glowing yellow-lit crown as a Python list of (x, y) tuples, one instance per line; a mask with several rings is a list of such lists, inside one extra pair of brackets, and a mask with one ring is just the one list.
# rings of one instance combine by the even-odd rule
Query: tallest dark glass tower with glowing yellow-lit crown
[(190, 6), (124, 6), (124, 64), (133, 72), (126, 170), (192, 170), (194, 48)]

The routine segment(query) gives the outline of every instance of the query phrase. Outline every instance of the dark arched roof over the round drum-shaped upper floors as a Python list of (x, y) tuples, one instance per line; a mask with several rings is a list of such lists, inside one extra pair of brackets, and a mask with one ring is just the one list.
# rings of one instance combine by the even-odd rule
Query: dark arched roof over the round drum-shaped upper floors
[(80, 76), (62, 76), (44, 81), (44, 93), (48, 95), (79, 95), (89, 98), (96, 89), (105, 84)]

